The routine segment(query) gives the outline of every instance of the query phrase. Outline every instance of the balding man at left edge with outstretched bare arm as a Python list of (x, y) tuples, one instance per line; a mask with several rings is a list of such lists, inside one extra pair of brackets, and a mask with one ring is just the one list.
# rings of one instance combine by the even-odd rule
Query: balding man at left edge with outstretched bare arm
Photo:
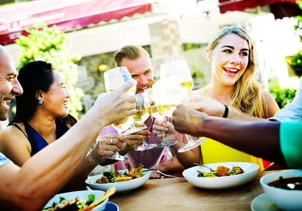
[[(6, 101), (23, 92), (17, 75), (11, 55), (0, 45), (0, 120), (8, 118)], [(82, 120), (22, 167), (0, 153), (1, 210), (42, 210), (81, 165), (99, 131), (136, 113), (136, 98), (126, 93), (136, 84), (131, 80), (107, 95), (101, 94)]]

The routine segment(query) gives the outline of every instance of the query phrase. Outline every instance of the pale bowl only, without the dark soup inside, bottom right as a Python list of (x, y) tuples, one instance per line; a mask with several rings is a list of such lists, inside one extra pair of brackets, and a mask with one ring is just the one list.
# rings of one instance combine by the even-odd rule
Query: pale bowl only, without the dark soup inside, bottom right
[(302, 177), (302, 170), (286, 170), (267, 174), (260, 179), (263, 190), (279, 208), (284, 210), (302, 210), (302, 190), (285, 190), (268, 186), (279, 177)]

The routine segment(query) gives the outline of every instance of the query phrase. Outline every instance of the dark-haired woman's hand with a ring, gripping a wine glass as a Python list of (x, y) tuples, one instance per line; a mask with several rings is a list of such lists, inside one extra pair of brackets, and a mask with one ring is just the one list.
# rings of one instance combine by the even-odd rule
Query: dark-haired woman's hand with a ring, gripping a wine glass
[[(112, 139), (112, 145), (111, 145)], [(123, 147), (124, 137), (118, 134), (102, 135), (97, 138), (97, 145), (91, 152), (93, 160), (97, 163), (102, 163), (106, 160), (106, 157), (112, 156), (117, 148)]]

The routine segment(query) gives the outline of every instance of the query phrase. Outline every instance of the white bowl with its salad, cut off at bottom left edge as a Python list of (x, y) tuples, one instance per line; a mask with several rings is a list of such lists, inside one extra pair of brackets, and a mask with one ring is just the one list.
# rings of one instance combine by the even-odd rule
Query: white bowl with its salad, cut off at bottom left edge
[[(81, 191), (56, 194), (53, 198), (51, 198), (47, 202), (47, 204), (44, 206), (43, 210), (52, 210), (51, 207), (54, 206), (54, 203), (57, 204), (57, 207), (60, 207), (60, 208), (55, 208), (54, 210), (60, 210), (62, 208), (64, 208), (64, 210), (65, 209), (73, 210), (72, 209), (73, 207), (75, 208), (74, 210), (78, 210), (78, 208), (81, 208), (81, 207), (83, 208), (83, 206), (86, 206), (87, 201), (90, 204), (90, 202), (97, 200), (104, 193), (105, 193), (105, 191), (100, 191), (100, 190), (81, 190)], [(103, 202), (101, 202), (100, 204), (98, 204), (91, 210), (93, 210), (93, 211), (104, 210), (107, 201), (108, 201), (108, 197)], [(49, 209), (46, 209), (46, 208), (49, 208)]]

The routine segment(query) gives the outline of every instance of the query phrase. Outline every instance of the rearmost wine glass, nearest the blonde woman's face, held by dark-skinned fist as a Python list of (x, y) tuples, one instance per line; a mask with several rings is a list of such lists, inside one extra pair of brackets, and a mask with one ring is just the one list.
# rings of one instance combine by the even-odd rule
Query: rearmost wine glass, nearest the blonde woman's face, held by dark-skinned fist
[[(166, 78), (174, 76), (178, 79), (180, 85), (187, 92), (187, 96), (189, 96), (190, 92), (193, 88), (193, 78), (188, 66), (188, 63), (184, 60), (167, 62), (161, 65), (160, 77)], [(205, 142), (205, 138), (201, 138), (198, 140), (193, 140), (191, 136), (185, 134), (188, 139), (188, 143), (181, 148), (178, 149), (178, 152), (185, 152), (191, 150), (203, 142)]]

